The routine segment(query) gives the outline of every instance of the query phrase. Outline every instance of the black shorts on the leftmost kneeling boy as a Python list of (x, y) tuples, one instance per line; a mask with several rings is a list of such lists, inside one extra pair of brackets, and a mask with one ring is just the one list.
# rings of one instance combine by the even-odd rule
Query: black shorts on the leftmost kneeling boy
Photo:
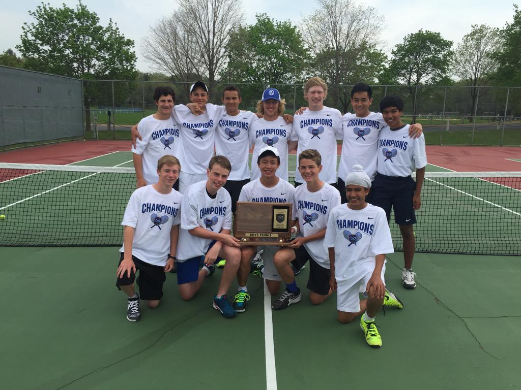
[[(125, 257), (125, 253), (121, 252), (119, 264), (123, 261), (123, 257)], [(145, 263), (135, 256), (132, 256), (132, 261), (136, 270), (139, 270), (139, 297), (145, 301), (160, 300), (163, 297), (163, 283), (166, 280), (165, 267)], [(117, 278), (116, 287), (121, 290), (120, 286), (131, 285), (134, 283), (134, 279), (134, 271), (130, 271), (130, 278), (125, 272), (122, 278)]]

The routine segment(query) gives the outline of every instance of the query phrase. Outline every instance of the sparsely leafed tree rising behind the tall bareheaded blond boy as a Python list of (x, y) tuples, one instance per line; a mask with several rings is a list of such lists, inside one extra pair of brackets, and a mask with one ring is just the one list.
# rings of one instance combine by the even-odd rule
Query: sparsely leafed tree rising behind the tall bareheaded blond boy
[(386, 57), (376, 49), (383, 17), (375, 8), (351, 0), (317, 0), (318, 9), (304, 18), (301, 30), (314, 57), (314, 72), (332, 84), (329, 95), (344, 111), (350, 93), (338, 85), (374, 82)]

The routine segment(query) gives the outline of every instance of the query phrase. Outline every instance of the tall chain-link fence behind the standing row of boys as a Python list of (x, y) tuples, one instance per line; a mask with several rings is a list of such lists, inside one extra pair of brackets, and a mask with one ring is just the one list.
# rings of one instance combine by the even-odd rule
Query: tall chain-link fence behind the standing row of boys
[[(176, 103), (189, 102), (191, 83), (167, 81), (83, 81), (85, 137), (128, 139), (130, 127), (156, 111), (154, 88), (169, 85)], [(208, 83), (210, 102), (220, 104), (228, 83)], [(266, 84), (235, 83), (241, 89), (243, 110), (255, 110)], [(286, 112), (306, 106), (303, 84), (271, 84), (286, 100)], [(342, 113), (352, 111), (352, 85), (330, 85), (325, 105)], [(521, 87), (375, 85), (372, 111), (386, 95), (405, 103), (404, 122), (419, 122), (430, 145), (521, 145)]]

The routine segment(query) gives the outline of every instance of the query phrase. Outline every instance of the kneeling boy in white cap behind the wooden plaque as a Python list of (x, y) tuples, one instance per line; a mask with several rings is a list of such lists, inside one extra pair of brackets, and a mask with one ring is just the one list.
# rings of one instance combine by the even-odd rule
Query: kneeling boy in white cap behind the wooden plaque
[[(277, 176), (280, 167), (279, 151), (267, 146), (259, 150), (257, 157), (257, 167), (261, 172), (261, 177), (246, 184), (239, 196), (239, 202), (270, 202), (270, 203), (293, 203), (295, 188), (288, 181)], [(295, 219), (292, 215), (292, 220)], [(279, 252), (289, 252), (294, 256), (291, 248), (279, 246), (261, 246), (264, 249), (264, 269), (263, 278), (271, 294), (277, 294), (280, 288), (279, 272), (274, 264), (274, 255)], [(237, 294), (233, 300), (233, 308), (238, 313), (246, 310), (247, 302), (250, 300), (246, 285), (248, 275), (251, 270), (251, 259), (257, 251), (256, 246), (242, 246), (241, 265), (237, 273)]]

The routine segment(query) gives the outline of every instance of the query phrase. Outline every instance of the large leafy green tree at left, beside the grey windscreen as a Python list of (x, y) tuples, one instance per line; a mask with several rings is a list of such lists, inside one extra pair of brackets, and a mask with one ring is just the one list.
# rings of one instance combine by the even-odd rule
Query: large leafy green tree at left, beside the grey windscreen
[[(100, 18), (81, 2), (76, 9), (42, 3), (29, 15), (35, 21), (23, 23), (21, 44), (16, 46), (27, 69), (82, 80), (133, 80), (137, 75), (134, 41), (126, 39), (112, 20), (107, 27), (100, 25)], [(103, 84), (84, 83), (86, 129), (91, 104), (111, 94), (108, 84)], [(126, 95), (121, 89), (118, 94)]]

